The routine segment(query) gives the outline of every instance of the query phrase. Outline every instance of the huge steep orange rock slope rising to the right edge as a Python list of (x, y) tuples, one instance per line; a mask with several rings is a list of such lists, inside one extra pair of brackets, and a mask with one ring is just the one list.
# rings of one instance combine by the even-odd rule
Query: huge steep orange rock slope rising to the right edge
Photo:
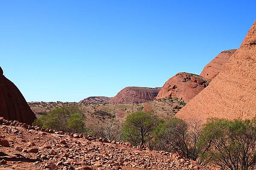
[(189, 121), (209, 117), (249, 119), (256, 116), (256, 22), (240, 48), (207, 88), (175, 116)]

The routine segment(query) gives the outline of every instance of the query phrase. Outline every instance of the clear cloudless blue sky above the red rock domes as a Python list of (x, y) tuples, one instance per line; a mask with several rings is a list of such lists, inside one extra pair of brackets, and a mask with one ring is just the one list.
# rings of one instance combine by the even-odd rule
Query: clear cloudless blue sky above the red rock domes
[(255, 0), (1, 0), (0, 66), (27, 101), (78, 102), (200, 74), (238, 48)]

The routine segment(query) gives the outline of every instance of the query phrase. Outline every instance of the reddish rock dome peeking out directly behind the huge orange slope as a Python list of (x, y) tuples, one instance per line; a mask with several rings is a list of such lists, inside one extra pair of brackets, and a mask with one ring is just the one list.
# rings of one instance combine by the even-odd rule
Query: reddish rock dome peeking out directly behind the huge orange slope
[(236, 50), (222, 51), (204, 67), (200, 76), (206, 79), (213, 79), (216, 77), (235, 51)]

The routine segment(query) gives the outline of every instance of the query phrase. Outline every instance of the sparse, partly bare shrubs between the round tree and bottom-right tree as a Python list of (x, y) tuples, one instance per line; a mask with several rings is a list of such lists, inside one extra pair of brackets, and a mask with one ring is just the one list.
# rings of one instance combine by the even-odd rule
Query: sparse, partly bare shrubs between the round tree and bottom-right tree
[(154, 130), (155, 149), (178, 152), (196, 160), (200, 152), (196, 146), (199, 135), (198, 122), (188, 125), (182, 119), (171, 118), (167, 122), (160, 123)]

